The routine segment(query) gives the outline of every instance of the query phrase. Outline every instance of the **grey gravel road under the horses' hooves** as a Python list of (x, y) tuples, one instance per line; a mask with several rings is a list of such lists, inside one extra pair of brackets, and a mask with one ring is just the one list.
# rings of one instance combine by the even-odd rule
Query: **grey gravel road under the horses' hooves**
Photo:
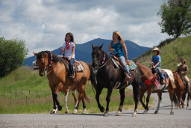
[[(159, 114), (150, 110), (147, 114), (139, 111), (132, 117), (132, 111), (124, 111), (120, 116), (111, 112), (102, 114), (1, 114), (0, 128), (191, 128), (191, 109), (175, 109), (170, 115), (168, 96), (163, 96)], [(167, 104), (164, 104), (167, 102)]]

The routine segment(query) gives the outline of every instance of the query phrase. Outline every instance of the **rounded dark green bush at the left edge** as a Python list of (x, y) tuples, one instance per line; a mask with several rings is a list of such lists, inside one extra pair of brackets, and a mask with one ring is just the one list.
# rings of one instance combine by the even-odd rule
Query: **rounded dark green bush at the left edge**
[(22, 65), (26, 53), (24, 41), (0, 37), (0, 77)]

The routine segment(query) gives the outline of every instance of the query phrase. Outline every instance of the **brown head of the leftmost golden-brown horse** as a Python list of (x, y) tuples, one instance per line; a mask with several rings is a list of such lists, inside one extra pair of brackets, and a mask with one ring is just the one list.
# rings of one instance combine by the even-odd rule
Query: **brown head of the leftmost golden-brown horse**
[(39, 69), (39, 75), (44, 76), (45, 75), (45, 70), (49, 66), (50, 63), (50, 56), (51, 53), (50, 51), (42, 51), (39, 53), (34, 53), (36, 56), (36, 65), (38, 66)]

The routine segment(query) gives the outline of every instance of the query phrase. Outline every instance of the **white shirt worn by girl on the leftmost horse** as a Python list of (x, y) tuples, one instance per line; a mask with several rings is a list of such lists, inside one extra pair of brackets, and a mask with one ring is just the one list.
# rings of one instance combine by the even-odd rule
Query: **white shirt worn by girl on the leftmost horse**
[(63, 45), (63, 48), (65, 48), (64, 56), (67, 58), (74, 58), (75, 59), (75, 51), (74, 51), (74, 55), (72, 55), (72, 48), (75, 49), (75, 43), (70, 42), (69, 45), (70, 45), (70, 47), (68, 49), (66, 48), (66, 42)]

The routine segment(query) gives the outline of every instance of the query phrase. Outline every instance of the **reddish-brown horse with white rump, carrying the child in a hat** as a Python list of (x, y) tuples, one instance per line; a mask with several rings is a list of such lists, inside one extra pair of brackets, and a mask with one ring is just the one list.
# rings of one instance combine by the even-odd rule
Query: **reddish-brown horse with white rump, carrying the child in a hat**
[[(161, 86), (160, 83), (158, 82), (157, 80), (157, 77), (156, 75), (154, 75), (151, 71), (151, 69), (139, 62), (136, 63), (137, 64), (137, 67), (140, 71), (140, 76), (141, 76), (141, 86), (140, 86), (140, 102), (142, 104), (142, 106), (144, 107), (145, 109), (145, 113), (148, 112), (149, 110), (149, 107), (148, 107), (148, 104), (149, 104), (149, 100), (150, 100), (150, 95), (152, 92), (156, 92), (157, 95), (158, 95), (158, 104), (157, 104), (157, 107), (155, 109), (155, 114), (158, 113), (159, 111), (159, 108), (160, 108), (160, 102), (162, 100), (162, 93), (163, 93), (163, 90), (164, 88), (167, 88), (168, 89), (168, 92), (169, 92), (169, 97), (170, 97), (170, 100), (171, 100), (171, 111), (170, 111), (170, 114), (173, 115), (174, 112), (173, 112), (173, 102), (176, 101), (176, 97), (175, 97), (175, 80), (174, 80), (174, 77), (173, 77), (173, 72), (171, 70), (168, 70), (168, 69), (162, 69), (163, 72), (166, 73), (167, 77), (168, 78), (165, 78), (165, 87), (164, 88), (161, 88), (161, 89), (157, 89), (157, 90), (154, 90), (153, 88), (155, 86)], [(146, 97), (146, 105), (145, 103), (143, 102), (143, 96), (145, 94), (145, 92), (147, 92), (147, 97)]]

